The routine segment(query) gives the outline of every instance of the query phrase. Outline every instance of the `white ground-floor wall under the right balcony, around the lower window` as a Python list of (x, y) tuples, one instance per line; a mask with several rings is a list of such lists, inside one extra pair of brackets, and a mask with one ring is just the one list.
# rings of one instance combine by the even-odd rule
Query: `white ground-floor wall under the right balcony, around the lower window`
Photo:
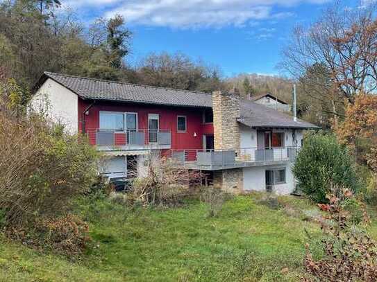
[(288, 195), (294, 191), (295, 181), (292, 173), (292, 164), (280, 166), (256, 166), (243, 168), (243, 184), (245, 191), (266, 191), (266, 170), (285, 168), (285, 184), (273, 186), (273, 192), (278, 195)]

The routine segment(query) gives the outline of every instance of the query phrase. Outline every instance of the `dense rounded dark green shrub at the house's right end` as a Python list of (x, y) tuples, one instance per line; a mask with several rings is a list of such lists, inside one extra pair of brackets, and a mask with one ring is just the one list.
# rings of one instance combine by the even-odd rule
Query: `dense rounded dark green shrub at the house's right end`
[(309, 134), (294, 164), (293, 173), (306, 195), (327, 202), (329, 184), (358, 191), (354, 161), (333, 134)]

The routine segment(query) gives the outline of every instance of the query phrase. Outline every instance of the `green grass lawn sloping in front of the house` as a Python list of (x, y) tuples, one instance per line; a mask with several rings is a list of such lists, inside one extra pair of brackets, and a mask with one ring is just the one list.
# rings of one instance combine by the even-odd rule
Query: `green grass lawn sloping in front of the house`
[(235, 197), (215, 218), (196, 200), (174, 209), (81, 201), (94, 240), (87, 254), (41, 253), (0, 235), (0, 281), (299, 281), (304, 229), (319, 234), (303, 211), (315, 206), (281, 197), (285, 208), (271, 209), (260, 197)]

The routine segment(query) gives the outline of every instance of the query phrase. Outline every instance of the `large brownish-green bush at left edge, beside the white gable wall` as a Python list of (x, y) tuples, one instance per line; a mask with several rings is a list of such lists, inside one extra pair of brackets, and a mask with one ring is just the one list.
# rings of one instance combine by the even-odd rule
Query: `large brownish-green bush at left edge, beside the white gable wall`
[(90, 188), (97, 152), (44, 119), (10, 118), (0, 112), (0, 209), (6, 224), (22, 226), (57, 215)]

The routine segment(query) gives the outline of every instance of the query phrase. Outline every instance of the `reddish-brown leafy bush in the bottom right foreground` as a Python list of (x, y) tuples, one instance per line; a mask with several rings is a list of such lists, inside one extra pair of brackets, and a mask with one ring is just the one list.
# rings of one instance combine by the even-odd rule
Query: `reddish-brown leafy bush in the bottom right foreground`
[[(352, 199), (352, 193), (336, 190), (328, 195), (329, 204), (319, 204), (327, 213), (321, 220), (324, 256), (316, 261), (307, 245), (307, 274), (302, 281), (376, 281), (377, 244), (364, 230), (350, 223), (351, 215), (342, 207)], [(365, 221), (369, 222), (369, 218), (365, 217)]]

